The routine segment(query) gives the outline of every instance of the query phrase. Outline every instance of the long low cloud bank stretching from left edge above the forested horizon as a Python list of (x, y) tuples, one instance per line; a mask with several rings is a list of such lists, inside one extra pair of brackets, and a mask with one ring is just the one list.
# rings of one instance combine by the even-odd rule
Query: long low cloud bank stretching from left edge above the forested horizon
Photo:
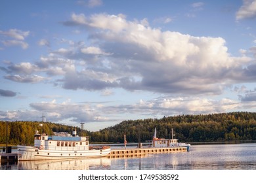
[[(125, 120), (123, 115), (169, 116), (179, 114), (209, 114), (238, 110), (244, 104), (232, 99), (213, 100), (204, 97), (168, 97), (163, 96), (149, 101), (140, 99), (129, 105), (111, 105), (111, 103), (58, 103), (56, 99), (40, 103), (30, 103), (32, 110), (0, 111), (2, 120), (39, 120), (41, 111), (51, 122), (63, 122), (69, 119), (74, 124), (79, 122), (114, 122)], [(182, 113), (181, 113), (182, 111)], [(113, 118), (114, 116), (114, 118)]]

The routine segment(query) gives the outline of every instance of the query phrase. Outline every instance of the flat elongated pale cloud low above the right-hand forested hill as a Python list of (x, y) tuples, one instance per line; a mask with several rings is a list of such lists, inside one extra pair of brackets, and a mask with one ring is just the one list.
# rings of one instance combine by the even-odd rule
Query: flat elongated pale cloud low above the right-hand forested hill
[(238, 110), (239, 101), (232, 99), (207, 99), (205, 97), (159, 97), (149, 101), (140, 99), (133, 105), (103, 106), (106, 114), (136, 114), (144, 116), (169, 116), (179, 114), (209, 114)]

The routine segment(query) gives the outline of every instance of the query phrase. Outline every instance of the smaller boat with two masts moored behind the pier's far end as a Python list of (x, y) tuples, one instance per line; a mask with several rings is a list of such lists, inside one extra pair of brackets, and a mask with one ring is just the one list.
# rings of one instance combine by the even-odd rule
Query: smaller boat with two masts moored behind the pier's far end
[(153, 137), (153, 141), (146, 141), (153, 148), (177, 148), (177, 147), (186, 147), (186, 150), (189, 151), (190, 144), (178, 142), (178, 139), (174, 139), (175, 135), (173, 134), (173, 129), (171, 129), (171, 139), (159, 139), (156, 137), (156, 129)]

